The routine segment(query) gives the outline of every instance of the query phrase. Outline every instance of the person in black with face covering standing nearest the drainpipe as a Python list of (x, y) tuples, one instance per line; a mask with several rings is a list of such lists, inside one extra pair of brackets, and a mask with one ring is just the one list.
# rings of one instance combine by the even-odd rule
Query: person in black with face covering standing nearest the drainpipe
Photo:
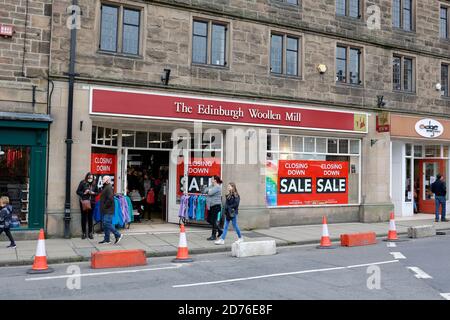
[[(98, 194), (97, 185), (94, 183), (94, 175), (90, 172), (86, 174), (84, 180), (80, 181), (77, 189), (77, 195), (80, 197), (81, 211), (81, 239), (86, 239), (86, 224), (88, 225), (89, 239), (94, 239), (92, 213), (95, 207), (95, 196)], [(91, 208), (83, 210), (81, 201), (90, 200)]]

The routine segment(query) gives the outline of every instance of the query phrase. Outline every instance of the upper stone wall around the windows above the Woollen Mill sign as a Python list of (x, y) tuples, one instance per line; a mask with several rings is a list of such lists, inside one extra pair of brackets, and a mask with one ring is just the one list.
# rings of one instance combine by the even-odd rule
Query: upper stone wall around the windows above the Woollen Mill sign
[[(68, 68), (69, 30), (65, 23), (69, 0), (56, 1), (53, 10), (51, 74), (61, 77)], [(450, 42), (439, 39), (439, 6), (433, 0), (416, 1), (416, 30), (393, 30), (391, 1), (363, 1), (361, 20), (336, 17), (333, 0), (302, 0), (299, 6), (276, 0), (166, 0), (116, 3), (142, 8), (144, 27), (141, 55), (129, 57), (98, 51), (100, 1), (80, 0), (82, 27), (78, 32), (77, 67), (83, 79), (160, 87), (164, 68), (170, 68), (169, 87), (206, 93), (274, 98), (331, 106), (376, 108), (384, 95), (386, 108), (408, 113), (448, 115), (450, 100), (440, 97), (440, 64), (450, 61)], [(367, 7), (381, 8), (381, 30), (366, 26)], [(230, 59), (225, 68), (191, 64), (194, 17), (230, 24)], [(301, 77), (269, 72), (270, 33), (281, 31), (302, 38)], [(363, 85), (335, 82), (337, 43), (363, 49)], [(392, 90), (392, 55), (415, 58), (416, 93)], [(316, 66), (328, 71), (320, 75)]]

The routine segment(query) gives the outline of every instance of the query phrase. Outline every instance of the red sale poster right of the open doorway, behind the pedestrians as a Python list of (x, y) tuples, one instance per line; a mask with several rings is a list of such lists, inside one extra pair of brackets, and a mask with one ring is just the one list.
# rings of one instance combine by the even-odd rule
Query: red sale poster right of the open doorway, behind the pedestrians
[[(220, 176), (219, 158), (192, 158), (188, 165), (188, 179), (184, 179), (184, 162), (177, 166), (177, 195), (181, 196), (185, 187), (188, 193), (201, 193), (202, 186), (211, 184), (211, 177)], [(187, 185), (186, 185), (187, 184)]]

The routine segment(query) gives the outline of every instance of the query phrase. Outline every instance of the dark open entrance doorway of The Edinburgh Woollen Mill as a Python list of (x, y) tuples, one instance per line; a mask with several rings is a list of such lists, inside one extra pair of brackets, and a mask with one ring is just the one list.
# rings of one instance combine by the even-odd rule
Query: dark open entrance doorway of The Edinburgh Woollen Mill
[(124, 153), (124, 192), (133, 204), (135, 221), (166, 222), (170, 152), (126, 149)]

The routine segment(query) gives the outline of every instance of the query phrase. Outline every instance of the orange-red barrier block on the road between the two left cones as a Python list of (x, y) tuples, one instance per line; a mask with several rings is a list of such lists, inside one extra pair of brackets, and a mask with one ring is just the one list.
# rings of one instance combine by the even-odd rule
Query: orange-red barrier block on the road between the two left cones
[(91, 268), (125, 268), (147, 264), (145, 250), (99, 251), (91, 254)]

